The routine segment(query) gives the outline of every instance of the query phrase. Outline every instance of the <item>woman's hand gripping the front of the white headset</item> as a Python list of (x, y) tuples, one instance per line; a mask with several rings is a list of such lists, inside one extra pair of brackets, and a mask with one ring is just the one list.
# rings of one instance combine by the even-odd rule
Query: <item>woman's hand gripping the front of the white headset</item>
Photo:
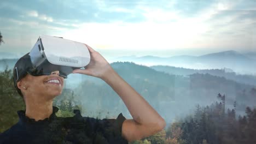
[(88, 47), (91, 55), (90, 63), (84, 67), (85, 69), (75, 69), (73, 70), (73, 73), (90, 75), (102, 79), (104, 75), (112, 70), (112, 67), (100, 53), (92, 49), (90, 46), (86, 46)]

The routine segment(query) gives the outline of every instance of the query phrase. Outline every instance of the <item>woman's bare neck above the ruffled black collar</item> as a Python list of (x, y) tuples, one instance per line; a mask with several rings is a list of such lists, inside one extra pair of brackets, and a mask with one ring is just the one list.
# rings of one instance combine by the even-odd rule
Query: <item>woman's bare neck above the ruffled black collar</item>
[(26, 116), (35, 121), (49, 118), (53, 113), (53, 100), (50, 101), (30, 101), (26, 99)]

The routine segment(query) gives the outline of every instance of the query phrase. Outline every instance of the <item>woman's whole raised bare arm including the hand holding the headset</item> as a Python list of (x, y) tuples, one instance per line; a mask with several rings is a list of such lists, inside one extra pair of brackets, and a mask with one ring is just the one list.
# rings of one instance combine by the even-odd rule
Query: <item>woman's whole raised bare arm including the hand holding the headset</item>
[(166, 123), (158, 112), (114, 71), (100, 53), (90, 46), (88, 49), (91, 54), (89, 65), (84, 70), (77, 69), (73, 73), (91, 75), (104, 80), (124, 101), (133, 119), (124, 121), (123, 137), (128, 141), (140, 140), (164, 129)]

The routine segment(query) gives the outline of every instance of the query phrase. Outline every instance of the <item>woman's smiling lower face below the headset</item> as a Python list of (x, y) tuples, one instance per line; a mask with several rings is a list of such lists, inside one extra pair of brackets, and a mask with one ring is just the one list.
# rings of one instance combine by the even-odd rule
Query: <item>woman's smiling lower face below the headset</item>
[(59, 71), (53, 71), (50, 75), (32, 76), (27, 74), (22, 79), (21, 89), (24, 95), (39, 95), (45, 100), (51, 100), (60, 95), (64, 79), (59, 76)]

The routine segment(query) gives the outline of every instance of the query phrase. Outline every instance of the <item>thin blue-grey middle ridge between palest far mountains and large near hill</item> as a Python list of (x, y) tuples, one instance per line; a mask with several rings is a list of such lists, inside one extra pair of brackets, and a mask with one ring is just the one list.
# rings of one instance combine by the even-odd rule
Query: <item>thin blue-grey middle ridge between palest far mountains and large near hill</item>
[(176, 67), (171, 67), (171, 66), (162, 66), (162, 65), (156, 65), (152, 66), (150, 68), (153, 68), (158, 71), (163, 71), (168, 74), (172, 75), (183, 75), (183, 76), (188, 76), (191, 74), (211, 74), (214, 76), (220, 76), (220, 77), (225, 77), (226, 79), (229, 80), (234, 80), (240, 83), (246, 83), (249, 85), (254, 85), (256, 86), (256, 76), (253, 75), (239, 75), (233, 72), (231, 69), (185, 69), (185, 68), (176, 68)]

